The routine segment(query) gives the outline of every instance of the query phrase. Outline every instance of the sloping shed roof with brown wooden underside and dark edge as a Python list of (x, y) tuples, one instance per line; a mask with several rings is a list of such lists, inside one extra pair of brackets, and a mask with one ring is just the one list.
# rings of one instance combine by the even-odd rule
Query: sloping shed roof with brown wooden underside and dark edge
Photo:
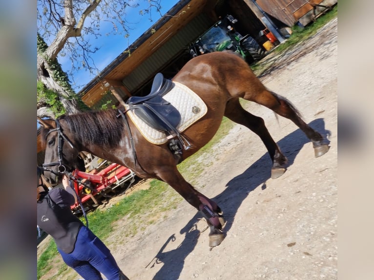
[(181, 0), (165, 16), (126, 48), (78, 93), (87, 105), (102, 98), (107, 81), (121, 83), (134, 69), (160, 49), (170, 37), (186, 26), (204, 9), (212, 10), (216, 0)]

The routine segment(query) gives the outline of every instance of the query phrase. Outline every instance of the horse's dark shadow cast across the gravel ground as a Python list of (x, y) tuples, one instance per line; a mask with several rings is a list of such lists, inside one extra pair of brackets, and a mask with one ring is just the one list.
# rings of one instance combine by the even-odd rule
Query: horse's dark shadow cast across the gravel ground
[[(309, 123), (309, 125), (321, 133), (324, 139), (330, 137), (330, 131), (325, 129), (325, 122), (323, 119), (313, 120)], [(277, 142), (284, 155), (288, 158), (288, 166), (293, 164), (296, 155), (308, 142), (309, 139), (300, 129), (295, 130)], [(251, 166), (249, 166), (244, 173), (230, 180), (226, 185), (226, 189), (221, 194), (212, 198), (224, 211), (224, 217), (225, 220), (227, 220), (224, 228), (225, 233), (229, 232), (235, 220), (235, 214), (237, 213), (239, 206), (243, 200), (247, 198), (249, 193), (260, 185), (262, 189), (266, 189), (265, 182), (270, 179), (270, 168), (271, 160), (269, 155), (266, 153), (260, 159), (256, 160)], [(225, 211), (225, 209), (227, 210)], [(186, 235), (185, 239), (176, 249), (164, 252), (166, 245), (170, 241), (175, 240), (175, 234), (171, 235), (166, 240), (165, 244), (160, 248), (158, 254), (148, 264), (148, 266), (153, 267), (155, 263), (164, 263), (164, 265), (153, 277), (153, 280), (179, 278), (183, 270), (186, 257), (193, 251), (197, 244), (197, 240), (201, 232), (197, 229), (196, 223), (198, 219), (201, 219), (202, 217), (203, 216), (200, 214), (200, 212), (197, 212), (196, 215), (189, 220), (186, 226), (180, 230), (181, 234), (185, 233)], [(208, 230), (206, 233), (205, 238), (208, 238)], [(225, 242), (225, 240), (223, 242)]]

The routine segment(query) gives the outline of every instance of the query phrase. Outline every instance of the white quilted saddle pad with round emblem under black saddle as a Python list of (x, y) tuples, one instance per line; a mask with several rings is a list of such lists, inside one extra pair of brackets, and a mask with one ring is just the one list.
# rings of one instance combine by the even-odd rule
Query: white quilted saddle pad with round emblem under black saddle
[[(173, 81), (175, 86), (163, 98), (169, 101), (181, 114), (181, 122), (177, 126), (179, 132), (183, 132), (192, 123), (201, 119), (208, 112), (208, 107), (201, 98), (190, 90), (187, 86)], [(126, 110), (128, 105), (125, 105)], [(153, 144), (163, 144), (167, 141), (166, 133), (156, 130), (146, 124), (132, 111), (127, 111), (127, 115), (136, 125), (146, 140)]]

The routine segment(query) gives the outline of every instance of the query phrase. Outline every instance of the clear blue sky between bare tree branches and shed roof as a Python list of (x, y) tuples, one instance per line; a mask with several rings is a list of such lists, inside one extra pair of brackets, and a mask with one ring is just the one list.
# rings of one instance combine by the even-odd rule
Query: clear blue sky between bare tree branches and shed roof
[[(131, 10), (129, 10), (127, 13), (126, 20), (134, 23), (131, 26), (132, 30), (130, 30), (129, 38), (125, 38), (124, 35), (105, 35), (107, 32), (112, 31), (113, 27), (109, 23), (103, 23), (100, 30), (102, 36), (99, 36), (97, 39), (92, 36), (92, 38), (89, 39), (92, 47), (100, 48), (95, 54), (91, 55), (96, 67), (100, 71), (102, 71), (105, 66), (112, 62), (116, 57), (118, 57), (128, 45), (137, 40), (148, 28), (150, 28), (154, 23), (156, 23), (157, 20), (160, 19), (161, 16), (155, 11), (152, 12), (152, 22), (148, 20), (148, 15), (139, 15), (139, 10), (144, 8), (146, 1), (139, 0), (138, 2), (140, 7), (131, 8)], [(179, 0), (162, 0), (161, 14), (165, 15), (166, 12), (178, 2)], [(69, 72), (71, 69), (71, 61), (67, 57), (61, 56), (58, 56), (58, 60), (62, 65), (62, 70)], [(74, 90), (79, 92), (84, 85), (94, 79), (97, 74), (98, 73), (95, 73), (95, 75), (90, 74), (89, 71), (84, 69), (80, 70), (79, 72), (75, 72), (73, 77), (70, 77)]]

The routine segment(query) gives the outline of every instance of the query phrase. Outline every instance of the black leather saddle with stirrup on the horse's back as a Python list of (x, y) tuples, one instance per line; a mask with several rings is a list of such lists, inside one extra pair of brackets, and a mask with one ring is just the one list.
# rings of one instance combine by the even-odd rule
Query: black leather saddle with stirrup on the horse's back
[[(162, 73), (157, 73), (153, 79), (150, 93), (145, 97), (133, 96), (126, 103), (129, 110), (147, 123), (150, 127), (165, 132), (167, 138), (172, 139), (177, 136), (183, 147), (187, 150), (191, 147), (190, 143), (180, 134), (177, 129), (181, 121), (180, 112), (167, 100), (163, 99), (172, 88), (174, 83), (164, 78)], [(175, 149), (180, 153), (178, 143), (172, 141), (173, 151)]]

